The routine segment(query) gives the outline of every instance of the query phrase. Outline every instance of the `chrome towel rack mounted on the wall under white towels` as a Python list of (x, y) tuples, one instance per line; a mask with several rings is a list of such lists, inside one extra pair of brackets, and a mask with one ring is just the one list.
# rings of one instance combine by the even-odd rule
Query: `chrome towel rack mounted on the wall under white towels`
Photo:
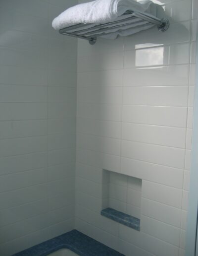
[(164, 32), (169, 27), (169, 20), (166, 18), (159, 19), (145, 12), (127, 10), (118, 20), (104, 24), (77, 24), (62, 28), (59, 33), (88, 40), (91, 45), (94, 45), (99, 36), (114, 34), (115, 32), (126, 30), (126, 27), (127, 29), (130, 27), (141, 29), (141, 27), (147, 27), (151, 24), (157, 25), (158, 30)]

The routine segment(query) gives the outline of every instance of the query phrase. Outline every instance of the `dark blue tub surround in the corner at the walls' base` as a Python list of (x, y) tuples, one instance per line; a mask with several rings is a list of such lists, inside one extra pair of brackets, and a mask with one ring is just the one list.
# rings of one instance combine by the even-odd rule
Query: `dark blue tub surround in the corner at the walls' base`
[(63, 248), (79, 256), (124, 256), (77, 230), (52, 238), (13, 256), (47, 256)]

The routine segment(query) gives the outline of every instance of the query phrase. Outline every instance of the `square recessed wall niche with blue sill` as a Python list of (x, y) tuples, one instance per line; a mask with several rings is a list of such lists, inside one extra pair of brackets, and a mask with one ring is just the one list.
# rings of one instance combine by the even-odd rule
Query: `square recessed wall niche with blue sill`
[(140, 230), (142, 180), (103, 170), (101, 215)]

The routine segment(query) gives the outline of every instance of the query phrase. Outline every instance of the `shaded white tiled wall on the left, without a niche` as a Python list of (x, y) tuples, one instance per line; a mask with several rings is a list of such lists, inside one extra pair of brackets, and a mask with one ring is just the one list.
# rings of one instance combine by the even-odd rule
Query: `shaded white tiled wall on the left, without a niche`
[(51, 20), (74, 0), (0, 0), (0, 255), (74, 228), (77, 41)]

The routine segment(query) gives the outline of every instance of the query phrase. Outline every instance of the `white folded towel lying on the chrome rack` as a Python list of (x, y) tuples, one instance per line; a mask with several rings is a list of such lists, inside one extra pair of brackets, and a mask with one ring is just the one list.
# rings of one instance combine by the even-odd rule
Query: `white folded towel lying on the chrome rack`
[(150, 0), (95, 0), (81, 3), (66, 9), (54, 18), (52, 27), (59, 30), (79, 23), (106, 23), (116, 20), (127, 10), (149, 13), (153, 10), (151, 4)]

